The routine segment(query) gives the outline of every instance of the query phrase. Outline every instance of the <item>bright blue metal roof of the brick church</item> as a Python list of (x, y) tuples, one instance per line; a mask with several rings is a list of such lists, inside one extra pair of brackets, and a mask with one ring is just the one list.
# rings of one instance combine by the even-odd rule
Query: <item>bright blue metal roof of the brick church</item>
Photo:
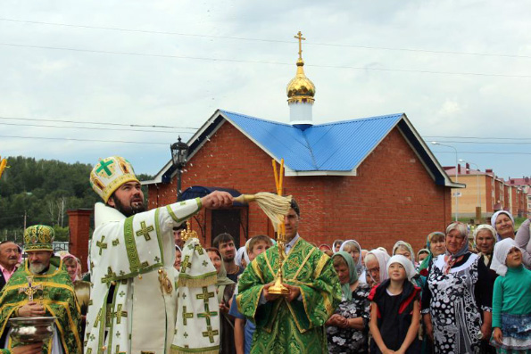
[(295, 171), (352, 171), (402, 119), (402, 113), (342, 120), (301, 130), (292, 125), (220, 111), (261, 148)]

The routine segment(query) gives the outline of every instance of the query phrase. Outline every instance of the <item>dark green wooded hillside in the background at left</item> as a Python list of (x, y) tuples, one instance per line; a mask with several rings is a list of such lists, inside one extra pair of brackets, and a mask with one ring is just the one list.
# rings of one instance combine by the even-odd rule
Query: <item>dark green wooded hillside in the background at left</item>
[(24, 222), (54, 226), (55, 239), (68, 241), (67, 210), (92, 209), (101, 201), (88, 182), (89, 164), (17, 156), (7, 157), (7, 166), (0, 178), (0, 241), (21, 243)]

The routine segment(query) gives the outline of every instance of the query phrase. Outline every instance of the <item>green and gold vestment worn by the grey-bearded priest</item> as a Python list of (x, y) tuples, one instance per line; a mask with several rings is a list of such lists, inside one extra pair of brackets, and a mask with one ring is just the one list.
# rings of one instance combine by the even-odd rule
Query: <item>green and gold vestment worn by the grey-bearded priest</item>
[[(76, 300), (74, 285), (71, 277), (62, 268), (62, 260), (50, 259), (50, 268), (43, 275), (35, 275), (29, 271), (28, 260), (24, 261), (9, 282), (0, 292), (0, 335), (8, 328), (8, 319), (15, 316), (17, 309), (28, 303), (28, 295), (19, 292), (28, 286), (28, 276), (33, 276), (33, 285), (42, 285), (43, 290), (37, 290), (34, 301), (42, 303), (46, 309), (44, 316), (57, 317), (55, 328), (59, 331), (59, 338), (64, 353), (78, 354), (82, 351), (80, 333), (81, 313)], [(10, 341), (11, 348), (20, 345)], [(51, 353), (52, 338), (45, 343), (43, 352)]]

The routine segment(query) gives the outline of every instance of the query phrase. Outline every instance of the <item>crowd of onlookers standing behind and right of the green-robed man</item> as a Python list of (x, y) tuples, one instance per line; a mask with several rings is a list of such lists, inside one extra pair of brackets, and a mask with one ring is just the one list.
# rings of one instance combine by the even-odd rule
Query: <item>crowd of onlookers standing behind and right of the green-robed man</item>
[[(507, 211), (473, 231), (452, 222), (427, 235), (418, 252), (404, 241), (391, 252), (364, 250), (355, 240), (312, 244), (332, 259), (341, 286), (341, 300), (323, 326), (328, 352), (531, 352), (530, 224), (515, 236)], [(234, 283), (274, 240), (258, 235), (236, 250), (234, 239), (222, 234), (213, 244), (209, 253), (221, 279), (226, 269), (234, 276), (224, 290), (232, 302), (220, 301), (228, 314), (222, 352), (253, 352), (256, 324), (239, 311)]]

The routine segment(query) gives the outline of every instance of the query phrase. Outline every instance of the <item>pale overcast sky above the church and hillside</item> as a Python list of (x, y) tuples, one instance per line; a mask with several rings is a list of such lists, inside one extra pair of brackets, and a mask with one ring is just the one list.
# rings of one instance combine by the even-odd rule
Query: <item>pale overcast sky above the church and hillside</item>
[(525, 1), (4, 0), (0, 155), (154, 175), (218, 108), (288, 122), (301, 30), (316, 123), (405, 112), (459, 159), (528, 176), (530, 18)]

